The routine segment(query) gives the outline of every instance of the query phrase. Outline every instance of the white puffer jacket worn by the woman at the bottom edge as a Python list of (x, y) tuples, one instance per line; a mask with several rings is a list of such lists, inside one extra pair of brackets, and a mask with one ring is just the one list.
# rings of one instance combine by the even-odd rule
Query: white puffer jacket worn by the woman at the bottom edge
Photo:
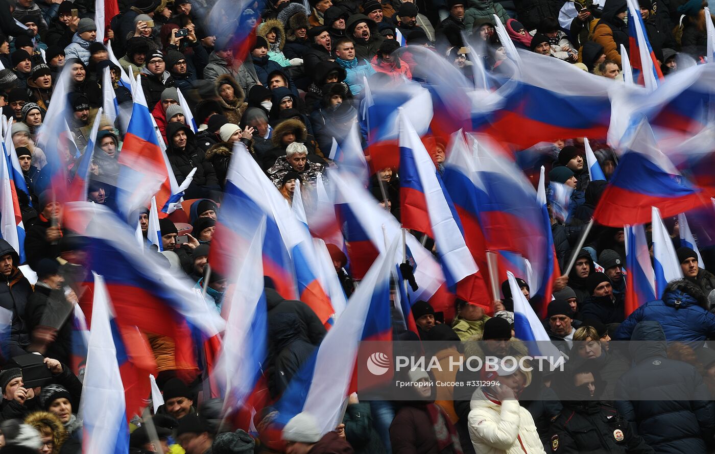
[(546, 454), (531, 414), (518, 400), (498, 404), (476, 390), (469, 412), (469, 437), (480, 454)]

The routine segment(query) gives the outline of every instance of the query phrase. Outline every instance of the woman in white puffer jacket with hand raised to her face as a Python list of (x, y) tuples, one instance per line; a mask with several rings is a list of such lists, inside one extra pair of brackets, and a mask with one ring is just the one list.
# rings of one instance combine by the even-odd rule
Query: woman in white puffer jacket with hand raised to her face
[(545, 454), (531, 414), (518, 395), (531, 382), (531, 373), (503, 369), (485, 381), (498, 385), (475, 390), (470, 403), (469, 436), (480, 454)]

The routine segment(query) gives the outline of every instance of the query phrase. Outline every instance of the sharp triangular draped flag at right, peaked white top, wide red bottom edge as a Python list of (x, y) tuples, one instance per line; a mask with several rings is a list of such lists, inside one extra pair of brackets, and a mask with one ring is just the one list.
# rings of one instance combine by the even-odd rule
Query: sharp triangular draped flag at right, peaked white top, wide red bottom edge
[(610, 227), (644, 224), (652, 217), (649, 207), (658, 207), (664, 216), (675, 216), (703, 204), (701, 193), (661, 153), (653, 131), (643, 121), (633, 130), (593, 218)]

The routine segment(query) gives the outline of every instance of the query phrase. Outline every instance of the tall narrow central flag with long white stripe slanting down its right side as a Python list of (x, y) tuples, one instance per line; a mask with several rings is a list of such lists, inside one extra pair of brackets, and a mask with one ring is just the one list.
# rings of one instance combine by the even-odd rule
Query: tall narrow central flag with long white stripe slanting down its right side
[(410, 120), (400, 113), (400, 204), (403, 226), (434, 238), (447, 285), (478, 271), (459, 216)]

